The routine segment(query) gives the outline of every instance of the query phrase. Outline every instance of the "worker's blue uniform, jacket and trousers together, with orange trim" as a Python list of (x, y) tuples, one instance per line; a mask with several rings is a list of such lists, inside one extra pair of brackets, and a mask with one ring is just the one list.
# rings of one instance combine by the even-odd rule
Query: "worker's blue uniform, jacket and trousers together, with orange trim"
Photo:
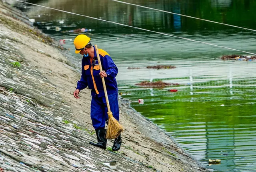
[[(105, 78), (105, 83), (108, 92), (110, 109), (114, 118), (119, 121), (118, 88), (116, 82), (118, 68), (106, 51), (98, 49), (98, 52), (100, 55), (100, 61), (102, 63), (102, 70), (105, 70), (106, 74), (108, 75)], [(102, 78), (100, 78), (99, 73), (100, 66), (94, 47), (94, 58), (92, 64), (89, 57), (83, 57), (82, 59), (82, 76), (80, 81), (77, 82), (76, 87), (78, 90), (83, 90), (88, 86), (88, 88), (92, 90), (91, 119), (94, 129), (104, 129), (106, 120), (108, 119), (108, 108)]]

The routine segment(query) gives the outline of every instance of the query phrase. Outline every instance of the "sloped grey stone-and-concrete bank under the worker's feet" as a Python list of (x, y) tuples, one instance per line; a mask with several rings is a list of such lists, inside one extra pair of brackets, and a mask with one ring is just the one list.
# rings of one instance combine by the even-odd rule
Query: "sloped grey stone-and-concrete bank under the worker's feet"
[[(6, 10), (9, 9), (9, 10)], [(207, 171), (178, 144), (120, 98), (122, 148), (102, 150), (90, 119), (90, 91), (72, 93), (78, 70), (58, 44), (0, 1), (0, 170)]]

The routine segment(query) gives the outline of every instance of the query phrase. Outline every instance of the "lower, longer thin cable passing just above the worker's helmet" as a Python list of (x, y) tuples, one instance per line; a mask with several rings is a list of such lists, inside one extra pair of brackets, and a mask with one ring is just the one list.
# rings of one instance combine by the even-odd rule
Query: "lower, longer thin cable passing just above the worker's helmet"
[(212, 44), (212, 43), (206, 43), (206, 42), (202, 42), (202, 41), (196, 41), (196, 40), (193, 40), (193, 39), (188, 39), (188, 38), (184, 38), (184, 37), (174, 36), (174, 35), (170, 35), (170, 34), (167, 34), (167, 33), (162, 33), (162, 32), (152, 31), (152, 30), (148, 30), (148, 29), (143, 29), (143, 28), (140, 28), (140, 27), (135, 27), (135, 26), (125, 25), (125, 24), (121, 24), (121, 23), (111, 22), (111, 21), (108, 21), (108, 20), (103, 20), (103, 19), (99, 19), (99, 18), (94, 18), (94, 17), (90, 17), (90, 16), (85, 16), (85, 15), (82, 15), (82, 14), (76, 14), (76, 13), (73, 13), (73, 12), (68, 12), (68, 11), (59, 10), (59, 9), (56, 9), (56, 8), (51, 8), (51, 7), (46, 7), (46, 6), (42, 6), (42, 5), (38, 5), (38, 4), (33, 4), (33, 3), (30, 3), (30, 2), (24, 2), (24, 1), (20, 1), (20, 0), (15, 0), (15, 1), (23, 2), (23, 3), (30, 4), (30, 5), (34, 5), (34, 6), (40, 6), (40, 7), (48, 8), (48, 9), (52, 9), (52, 10), (57, 10), (57, 11), (65, 12), (65, 13), (68, 13), (68, 14), (74, 14), (74, 15), (77, 15), (77, 16), (83, 16), (83, 17), (86, 17), (86, 18), (91, 18), (91, 19), (95, 19), (95, 20), (100, 20), (100, 21), (103, 21), (103, 22), (109, 22), (109, 23), (114, 23), (114, 24), (117, 24), (117, 25), (126, 26), (126, 27), (132, 27), (132, 28), (134, 28), (134, 29), (140, 29), (140, 30), (144, 30), (144, 31), (149, 31), (149, 32), (153, 32), (153, 33), (158, 33), (158, 34), (161, 34), (161, 35), (166, 35), (166, 36), (170, 36), (170, 37), (176, 37), (176, 38), (185, 39), (185, 40), (188, 40), (188, 41), (194, 41), (194, 42), (198, 42), (198, 43), (204, 43), (204, 44), (212, 45), (212, 46), (215, 46), (215, 47), (220, 47), (220, 48), (230, 49), (230, 50), (234, 50), (234, 51), (240, 51), (240, 52), (243, 52), (243, 53), (248, 53), (248, 54), (251, 54), (251, 55), (256, 55), (255, 53), (250, 53), (250, 52), (247, 52), (247, 51), (242, 51), (242, 50), (233, 49), (233, 48), (229, 48), (229, 47), (224, 47), (224, 46), (220, 46), (220, 45), (214, 45), (214, 44)]

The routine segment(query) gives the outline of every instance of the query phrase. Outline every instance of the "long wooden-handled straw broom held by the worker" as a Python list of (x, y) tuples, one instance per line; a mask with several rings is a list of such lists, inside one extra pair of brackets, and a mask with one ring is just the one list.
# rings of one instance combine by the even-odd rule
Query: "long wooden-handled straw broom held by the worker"
[[(100, 55), (99, 55), (99, 52), (98, 52), (97, 45), (95, 45), (95, 49), (96, 49), (96, 53), (97, 53), (98, 62), (99, 62), (99, 65), (100, 65), (100, 72), (102, 72), (102, 65), (101, 65)], [(102, 78), (102, 84), (103, 84), (104, 93), (105, 93), (106, 102), (107, 102), (107, 107), (108, 107), (108, 129), (107, 129), (106, 139), (116, 139), (116, 137), (118, 137), (118, 135), (120, 135), (121, 132), (123, 131), (123, 127), (113, 117), (113, 113), (111, 112), (104, 77)]]

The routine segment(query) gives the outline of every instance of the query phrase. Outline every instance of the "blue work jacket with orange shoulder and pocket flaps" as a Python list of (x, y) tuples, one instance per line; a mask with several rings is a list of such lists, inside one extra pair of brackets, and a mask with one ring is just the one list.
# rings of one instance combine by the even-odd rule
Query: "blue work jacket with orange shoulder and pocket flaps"
[[(93, 46), (94, 47), (94, 46)], [(106, 88), (108, 94), (113, 94), (118, 91), (116, 83), (116, 75), (118, 68), (114, 64), (114, 61), (108, 55), (108, 53), (102, 49), (98, 49), (100, 55), (100, 61), (102, 63), (102, 70), (106, 71), (108, 75), (105, 78)], [(76, 89), (82, 90), (88, 86), (92, 90), (92, 96), (98, 95), (98, 97), (105, 96), (102, 84), (102, 78), (100, 78), (100, 66), (97, 59), (96, 50), (94, 47), (94, 58), (92, 64), (89, 57), (83, 57), (82, 59), (82, 76), (80, 81), (77, 82)]]

